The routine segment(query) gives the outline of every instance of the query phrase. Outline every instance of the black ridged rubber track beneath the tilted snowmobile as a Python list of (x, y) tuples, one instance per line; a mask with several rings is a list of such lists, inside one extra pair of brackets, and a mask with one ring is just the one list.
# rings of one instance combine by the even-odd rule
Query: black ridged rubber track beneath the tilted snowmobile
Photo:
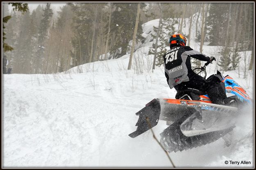
[(188, 150), (196, 148), (199, 146), (204, 146), (210, 144), (211, 142), (220, 139), (222, 136), (229, 133), (235, 126), (230, 128), (219, 130), (215, 132), (208, 132), (202, 135), (196, 135), (193, 137), (185, 136), (180, 129), (181, 123), (187, 118), (187, 116), (182, 117), (179, 121), (174, 122), (168, 128), (166, 128), (161, 135), (161, 144), (170, 152), (177, 152), (182, 150)]

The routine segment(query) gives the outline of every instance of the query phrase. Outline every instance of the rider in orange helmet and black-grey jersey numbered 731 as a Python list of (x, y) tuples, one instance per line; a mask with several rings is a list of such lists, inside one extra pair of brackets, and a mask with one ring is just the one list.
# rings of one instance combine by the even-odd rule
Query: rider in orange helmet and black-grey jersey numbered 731
[(208, 82), (191, 69), (190, 57), (211, 63), (215, 57), (208, 57), (186, 46), (186, 38), (182, 34), (170, 37), (170, 50), (163, 55), (165, 77), (170, 88), (177, 92), (186, 88), (193, 88), (207, 93), (214, 104), (223, 104), (226, 93), (220, 84)]

